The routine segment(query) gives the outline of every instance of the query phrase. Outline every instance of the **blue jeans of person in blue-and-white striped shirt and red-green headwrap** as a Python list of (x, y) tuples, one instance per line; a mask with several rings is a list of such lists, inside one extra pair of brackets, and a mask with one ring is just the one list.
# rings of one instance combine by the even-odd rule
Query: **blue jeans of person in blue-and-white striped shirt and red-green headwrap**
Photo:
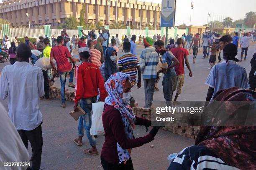
[(154, 87), (156, 84), (156, 79), (143, 79), (144, 80), (144, 90), (145, 90), (145, 107), (151, 107), (154, 95)]

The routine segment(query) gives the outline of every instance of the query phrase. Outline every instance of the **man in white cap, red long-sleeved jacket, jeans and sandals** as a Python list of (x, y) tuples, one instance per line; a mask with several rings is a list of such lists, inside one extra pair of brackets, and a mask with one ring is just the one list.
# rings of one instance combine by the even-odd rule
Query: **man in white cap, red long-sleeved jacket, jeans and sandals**
[(95, 138), (90, 134), (92, 103), (97, 100), (97, 95), (99, 95), (98, 89), (100, 90), (101, 101), (105, 100), (107, 93), (103, 77), (100, 74), (100, 68), (89, 61), (90, 52), (88, 47), (79, 48), (79, 58), (82, 64), (78, 65), (76, 69), (77, 86), (74, 97), (74, 111), (77, 110), (78, 102), (80, 102), (80, 106), (86, 114), (79, 117), (78, 137), (74, 139), (74, 143), (78, 146), (82, 145), (85, 129), (91, 148), (84, 150), (84, 153), (98, 155)]

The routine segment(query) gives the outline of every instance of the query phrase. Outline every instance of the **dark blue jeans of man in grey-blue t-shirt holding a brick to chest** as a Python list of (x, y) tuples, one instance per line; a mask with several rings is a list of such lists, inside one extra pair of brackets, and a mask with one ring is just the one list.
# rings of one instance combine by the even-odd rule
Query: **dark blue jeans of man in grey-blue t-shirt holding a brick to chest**
[(164, 92), (164, 99), (166, 101), (166, 104), (172, 101), (172, 93), (173, 93), (173, 84), (172, 79), (176, 79), (177, 77), (171, 77), (164, 75), (162, 85), (163, 85), (163, 92)]

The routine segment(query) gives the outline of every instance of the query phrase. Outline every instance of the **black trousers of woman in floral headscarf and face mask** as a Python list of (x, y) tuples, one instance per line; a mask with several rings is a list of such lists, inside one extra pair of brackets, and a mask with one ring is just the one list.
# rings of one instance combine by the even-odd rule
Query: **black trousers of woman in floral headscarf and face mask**
[(100, 156), (100, 161), (104, 170), (133, 170), (133, 162), (131, 158), (127, 160), (125, 164), (123, 162), (121, 164), (108, 163), (102, 156)]

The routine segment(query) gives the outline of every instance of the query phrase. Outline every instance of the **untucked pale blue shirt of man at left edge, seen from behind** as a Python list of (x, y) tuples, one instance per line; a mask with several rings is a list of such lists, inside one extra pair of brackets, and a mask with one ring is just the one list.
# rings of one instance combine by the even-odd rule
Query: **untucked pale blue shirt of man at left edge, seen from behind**
[(39, 67), (18, 61), (3, 67), (0, 99), (8, 98), (8, 114), (17, 130), (33, 130), (40, 125), (38, 100), (43, 95), (44, 76)]

